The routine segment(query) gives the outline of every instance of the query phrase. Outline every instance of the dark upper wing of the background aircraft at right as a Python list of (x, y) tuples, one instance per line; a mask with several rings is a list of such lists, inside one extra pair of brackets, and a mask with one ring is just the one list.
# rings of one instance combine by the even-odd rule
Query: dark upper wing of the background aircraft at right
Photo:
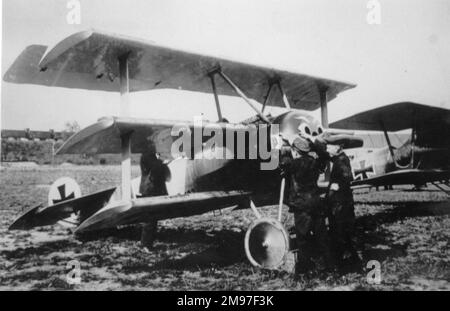
[(400, 131), (409, 128), (450, 126), (450, 110), (410, 102), (364, 111), (330, 124), (330, 128), (367, 131)]

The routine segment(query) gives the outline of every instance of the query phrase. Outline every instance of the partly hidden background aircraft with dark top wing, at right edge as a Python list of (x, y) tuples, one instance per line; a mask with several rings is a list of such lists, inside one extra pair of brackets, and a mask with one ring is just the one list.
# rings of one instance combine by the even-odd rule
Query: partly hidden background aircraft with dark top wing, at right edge
[[(420, 187), (432, 183), (449, 193), (445, 187), (449, 187), (450, 179), (450, 110), (402, 102), (361, 112), (331, 127), (384, 133), (383, 148), (347, 151), (352, 159), (354, 186)], [(411, 136), (394, 146), (389, 132), (405, 129), (411, 130)]]

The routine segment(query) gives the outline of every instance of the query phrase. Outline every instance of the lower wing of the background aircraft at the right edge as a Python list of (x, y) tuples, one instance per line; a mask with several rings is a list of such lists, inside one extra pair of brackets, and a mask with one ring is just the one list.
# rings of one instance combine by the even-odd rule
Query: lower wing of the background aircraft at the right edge
[(423, 185), (428, 182), (448, 180), (449, 178), (449, 170), (407, 169), (386, 173), (373, 178), (355, 180), (352, 182), (352, 186)]

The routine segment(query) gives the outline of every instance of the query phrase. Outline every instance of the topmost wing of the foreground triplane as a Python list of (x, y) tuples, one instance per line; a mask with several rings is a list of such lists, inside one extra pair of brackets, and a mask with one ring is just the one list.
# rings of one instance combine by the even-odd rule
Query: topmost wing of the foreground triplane
[[(212, 93), (208, 72), (217, 66), (248, 97), (258, 102), (264, 101), (269, 81), (279, 79), (292, 108), (319, 108), (319, 85), (328, 89), (328, 100), (355, 87), (349, 83), (173, 49), (94, 30), (76, 33), (47, 50), (43, 46), (28, 47), (6, 72), (4, 80), (119, 92), (117, 59), (124, 54), (129, 54), (131, 91), (169, 88)], [(219, 94), (235, 95), (222, 79), (216, 80)], [(273, 97), (269, 105), (284, 106), (280, 95)]]

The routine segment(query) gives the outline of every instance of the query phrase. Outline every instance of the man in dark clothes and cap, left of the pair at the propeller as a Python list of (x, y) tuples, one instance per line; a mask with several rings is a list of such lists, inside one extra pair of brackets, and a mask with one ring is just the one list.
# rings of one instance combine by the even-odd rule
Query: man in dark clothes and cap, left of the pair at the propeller
[(282, 150), (280, 167), (286, 178), (286, 203), (294, 213), (297, 238), (296, 274), (305, 273), (314, 267), (312, 257), (315, 250), (320, 252), (323, 268), (331, 267), (325, 225), (326, 209), (317, 185), (327, 158), (324, 142), (316, 140), (312, 143), (300, 136), (293, 141), (291, 148)]

